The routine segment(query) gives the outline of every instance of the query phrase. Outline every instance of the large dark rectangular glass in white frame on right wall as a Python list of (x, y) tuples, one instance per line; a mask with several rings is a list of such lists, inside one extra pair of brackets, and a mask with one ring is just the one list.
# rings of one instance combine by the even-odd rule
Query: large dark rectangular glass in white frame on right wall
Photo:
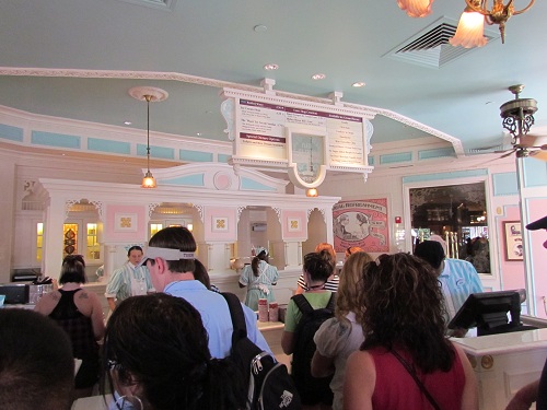
[(490, 273), (490, 244), (485, 183), (409, 188), (412, 250), (439, 235), (446, 256), (472, 262)]

